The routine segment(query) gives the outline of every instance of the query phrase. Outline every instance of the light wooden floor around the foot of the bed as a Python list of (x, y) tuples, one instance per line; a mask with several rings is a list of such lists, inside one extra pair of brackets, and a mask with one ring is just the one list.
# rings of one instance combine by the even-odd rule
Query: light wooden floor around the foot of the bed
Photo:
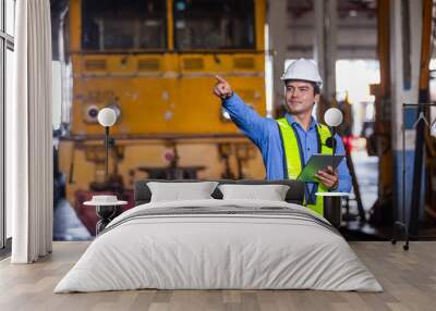
[(351, 242), (384, 293), (316, 290), (131, 290), (52, 294), (88, 242), (55, 242), (35, 264), (0, 262), (0, 310), (436, 310), (436, 241)]

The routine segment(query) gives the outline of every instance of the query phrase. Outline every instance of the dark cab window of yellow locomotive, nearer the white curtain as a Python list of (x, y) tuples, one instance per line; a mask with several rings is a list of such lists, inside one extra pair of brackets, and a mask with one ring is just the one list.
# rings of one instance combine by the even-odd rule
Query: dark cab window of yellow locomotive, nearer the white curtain
[(165, 49), (165, 3), (161, 0), (83, 0), (82, 49)]

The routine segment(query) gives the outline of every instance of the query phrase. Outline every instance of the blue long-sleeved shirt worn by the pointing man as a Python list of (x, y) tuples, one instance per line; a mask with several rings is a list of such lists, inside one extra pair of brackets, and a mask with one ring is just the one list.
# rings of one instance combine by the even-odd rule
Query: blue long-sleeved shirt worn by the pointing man
[[(266, 169), (267, 179), (283, 179), (283, 149), (280, 140), (279, 127), (277, 122), (270, 117), (261, 116), (254, 109), (246, 105), (243, 100), (233, 94), (232, 97), (222, 101), (222, 107), (230, 114), (231, 120), (261, 150), (262, 158)], [(302, 154), (304, 163), (314, 153), (318, 153), (318, 139), (316, 125), (318, 122), (312, 119), (312, 124), (305, 130), (292, 115), (287, 113), (286, 119), (290, 125), (295, 124), (298, 135), (300, 137)], [(339, 135), (335, 135), (336, 139), (336, 154), (346, 154), (342, 139)], [(351, 176), (347, 166), (347, 161), (343, 159), (338, 166), (338, 188), (337, 191), (350, 192), (351, 190)], [(306, 198), (312, 194), (314, 183), (306, 183)], [(308, 194), (307, 194), (308, 191)]]

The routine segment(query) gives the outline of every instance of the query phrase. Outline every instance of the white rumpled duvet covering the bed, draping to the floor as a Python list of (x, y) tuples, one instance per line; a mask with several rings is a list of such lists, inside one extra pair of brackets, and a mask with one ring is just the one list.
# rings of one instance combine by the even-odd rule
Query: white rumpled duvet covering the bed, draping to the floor
[[(183, 207), (288, 208), (296, 215), (194, 213), (126, 221), (149, 209)], [(138, 206), (108, 225), (55, 293), (138, 288), (383, 290), (339, 234), (299, 214), (315, 215), (296, 204), (259, 200)]]

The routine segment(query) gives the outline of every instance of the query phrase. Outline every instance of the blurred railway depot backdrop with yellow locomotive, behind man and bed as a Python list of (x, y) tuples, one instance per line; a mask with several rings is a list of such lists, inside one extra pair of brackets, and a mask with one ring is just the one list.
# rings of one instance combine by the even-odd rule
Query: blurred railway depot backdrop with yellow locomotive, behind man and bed
[[(83, 201), (96, 191), (116, 191), (132, 202), (138, 178), (265, 178), (259, 151), (210, 87), (219, 74), (258, 113), (278, 117), (284, 112), (278, 73), (300, 58), (314, 60), (322, 71), (317, 116), (322, 120), (329, 107), (344, 115), (340, 133), (353, 166), (353, 195), (343, 208), (343, 234), (389, 239), (395, 221), (407, 220), (419, 228), (415, 238), (433, 237), (432, 109), (425, 111), (428, 125), (420, 147), (425, 156), (417, 217), (410, 219), (412, 189), (404, 215), (398, 190), (402, 112), (395, 107), (423, 101), (417, 94), (425, 75), (425, 101), (434, 98), (433, 17), (421, 16), (423, 3), (404, 3), (110, 1), (102, 8), (95, 1), (51, 1), (55, 199), (61, 207), (55, 209), (56, 238), (89, 238), (96, 216)], [(393, 27), (396, 18), (407, 17), (422, 26)], [(425, 27), (432, 30), (424, 33)], [(400, 48), (410, 58), (401, 58)], [(106, 182), (104, 130), (97, 122), (105, 107), (118, 114)], [(414, 135), (416, 113), (404, 110), (408, 137)], [(408, 139), (408, 181), (414, 176), (414, 149), (415, 140)]]

